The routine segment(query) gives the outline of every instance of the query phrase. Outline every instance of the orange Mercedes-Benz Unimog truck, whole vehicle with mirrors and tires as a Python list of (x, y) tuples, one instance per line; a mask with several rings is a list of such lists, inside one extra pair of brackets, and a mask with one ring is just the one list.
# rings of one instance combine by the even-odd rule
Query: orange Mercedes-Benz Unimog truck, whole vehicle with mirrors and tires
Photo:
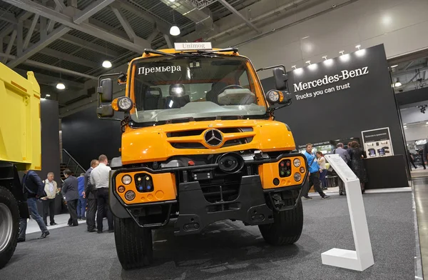
[(300, 238), (307, 162), (275, 121), (291, 101), (285, 67), (267, 69), (276, 89), (265, 93), (238, 49), (176, 43), (131, 61), (118, 76), (126, 96), (113, 99), (118, 74), (100, 77), (99, 118), (124, 112), (109, 187), (123, 269), (151, 264), (152, 231), (168, 223), (177, 236), (232, 220), (258, 225), (268, 244)]

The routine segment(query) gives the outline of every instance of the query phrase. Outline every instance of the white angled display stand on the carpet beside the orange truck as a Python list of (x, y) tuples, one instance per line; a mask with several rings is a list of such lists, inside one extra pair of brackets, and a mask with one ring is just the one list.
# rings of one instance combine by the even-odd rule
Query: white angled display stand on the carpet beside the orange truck
[(325, 159), (345, 183), (350, 210), (355, 251), (333, 248), (321, 254), (322, 264), (364, 271), (374, 264), (369, 228), (362, 201), (360, 180), (338, 154), (327, 154)]

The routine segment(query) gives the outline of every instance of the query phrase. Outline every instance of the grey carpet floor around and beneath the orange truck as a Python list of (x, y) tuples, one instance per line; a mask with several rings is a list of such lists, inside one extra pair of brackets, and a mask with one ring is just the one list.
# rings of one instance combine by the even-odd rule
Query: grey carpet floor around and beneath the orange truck
[(195, 236), (174, 237), (168, 226), (153, 235), (153, 266), (123, 271), (114, 235), (90, 234), (81, 225), (54, 229), (44, 240), (29, 234), (0, 279), (414, 279), (411, 196), (364, 196), (374, 266), (363, 272), (321, 263), (324, 251), (355, 249), (346, 198), (332, 196), (303, 201), (305, 225), (292, 246), (268, 246), (258, 227), (238, 221), (213, 224)]

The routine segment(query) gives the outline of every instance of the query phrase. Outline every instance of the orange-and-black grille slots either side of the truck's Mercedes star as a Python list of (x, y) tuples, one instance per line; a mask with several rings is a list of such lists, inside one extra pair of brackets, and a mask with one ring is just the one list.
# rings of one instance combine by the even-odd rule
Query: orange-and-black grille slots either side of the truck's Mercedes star
[[(219, 146), (219, 148), (248, 144), (253, 141), (255, 136), (252, 127), (220, 128), (218, 130), (222, 132), (225, 138), (223, 145)], [(205, 131), (206, 129), (173, 131), (168, 132), (166, 136), (168, 137), (170, 145), (175, 149), (208, 149), (204, 146), (205, 140), (203, 139), (203, 135)], [(242, 136), (240, 136), (240, 134), (242, 134)], [(185, 141), (183, 137), (187, 137), (189, 140)]]

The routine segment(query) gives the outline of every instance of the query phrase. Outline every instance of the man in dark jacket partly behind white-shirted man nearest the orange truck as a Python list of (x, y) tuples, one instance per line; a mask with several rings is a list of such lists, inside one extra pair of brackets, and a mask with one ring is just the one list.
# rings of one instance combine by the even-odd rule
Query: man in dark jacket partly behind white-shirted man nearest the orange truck
[(85, 173), (85, 194), (84, 197), (88, 200), (88, 212), (86, 213), (86, 225), (89, 232), (97, 231), (95, 224), (96, 214), (96, 188), (91, 184), (91, 172), (98, 166), (98, 159), (91, 161), (91, 167)]

